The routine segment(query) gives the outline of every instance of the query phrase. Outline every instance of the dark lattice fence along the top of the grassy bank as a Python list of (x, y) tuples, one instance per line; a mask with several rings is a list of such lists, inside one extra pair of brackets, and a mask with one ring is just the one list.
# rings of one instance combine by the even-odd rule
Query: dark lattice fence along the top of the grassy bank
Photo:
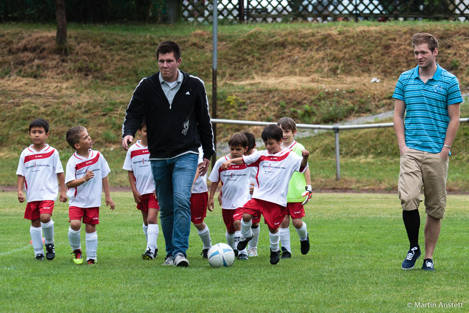
[[(212, 22), (213, 1), (183, 0), (183, 19)], [(469, 0), (218, 0), (230, 22), (437, 19), (469, 21)]]

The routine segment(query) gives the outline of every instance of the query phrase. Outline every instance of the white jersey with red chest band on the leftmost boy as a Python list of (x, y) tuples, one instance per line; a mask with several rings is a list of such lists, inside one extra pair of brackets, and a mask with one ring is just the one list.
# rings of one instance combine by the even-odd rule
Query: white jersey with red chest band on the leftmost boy
[(16, 175), (24, 177), (27, 202), (55, 201), (59, 194), (59, 173), (64, 173), (59, 153), (48, 144), (39, 152), (33, 145), (21, 152)]

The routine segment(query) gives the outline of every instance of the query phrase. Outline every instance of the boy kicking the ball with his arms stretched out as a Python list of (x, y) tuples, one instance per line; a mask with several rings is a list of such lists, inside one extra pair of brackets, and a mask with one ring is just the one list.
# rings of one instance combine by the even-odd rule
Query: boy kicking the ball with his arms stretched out
[(261, 136), (266, 150), (257, 151), (251, 156), (229, 159), (221, 168), (226, 169), (232, 164), (256, 167), (253, 198), (242, 208), (242, 236), (237, 248), (245, 248), (252, 239), (252, 219), (261, 213), (270, 231), (270, 263), (277, 264), (280, 260), (278, 227), (286, 213), (288, 182), (293, 172), (303, 173), (306, 170), (309, 152), (303, 150), (300, 157), (291, 151), (282, 150), (280, 144), (283, 132), (277, 125), (265, 127)]

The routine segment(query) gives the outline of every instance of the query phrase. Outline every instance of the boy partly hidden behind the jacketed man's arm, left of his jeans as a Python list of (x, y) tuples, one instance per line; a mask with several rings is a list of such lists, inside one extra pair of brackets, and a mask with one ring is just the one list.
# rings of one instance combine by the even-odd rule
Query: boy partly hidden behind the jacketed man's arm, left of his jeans
[(153, 260), (158, 255), (158, 212), (160, 207), (155, 197), (155, 182), (151, 174), (145, 118), (140, 124), (138, 134), (142, 139), (137, 140), (128, 148), (122, 168), (128, 170), (128, 181), (133, 199), (137, 203), (137, 209), (142, 212), (142, 227), (147, 241), (147, 248), (142, 254), (142, 259)]

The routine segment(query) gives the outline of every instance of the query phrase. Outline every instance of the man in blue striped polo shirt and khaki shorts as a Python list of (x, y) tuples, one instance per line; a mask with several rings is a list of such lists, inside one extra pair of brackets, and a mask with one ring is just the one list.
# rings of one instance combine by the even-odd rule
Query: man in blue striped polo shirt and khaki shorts
[[(425, 195), (425, 270), (434, 270), (433, 252), (445, 215), (451, 144), (459, 127), (463, 101), (453, 74), (436, 63), (438, 41), (427, 33), (412, 37), (417, 67), (401, 74), (392, 97), (394, 131), (401, 153), (399, 199), (410, 247), (402, 263), (412, 269), (421, 255), (419, 204)], [(404, 113), (405, 117), (404, 117)]]

